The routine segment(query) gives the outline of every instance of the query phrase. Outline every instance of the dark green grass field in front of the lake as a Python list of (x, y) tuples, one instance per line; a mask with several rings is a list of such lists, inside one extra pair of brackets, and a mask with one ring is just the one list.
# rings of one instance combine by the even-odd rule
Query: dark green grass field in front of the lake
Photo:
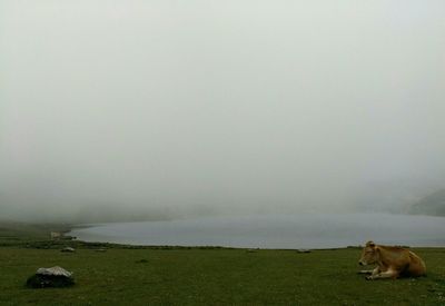
[[(356, 248), (299, 254), (112, 246), (99, 253), (78, 246), (75, 254), (29, 241), (0, 247), (0, 304), (445, 305), (444, 248), (415, 249), (428, 266), (427, 277), (369, 282), (356, 274)], [(55, 265), (73, 272), (77, 284), (24, 287), (37, 268)]]

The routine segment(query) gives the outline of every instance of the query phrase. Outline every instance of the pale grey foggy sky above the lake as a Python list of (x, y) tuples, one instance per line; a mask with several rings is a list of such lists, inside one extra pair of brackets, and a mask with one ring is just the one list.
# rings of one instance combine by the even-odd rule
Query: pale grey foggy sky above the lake
[(414, 203), (445, 187), (444, 11), (0, 1), (0, 218)]

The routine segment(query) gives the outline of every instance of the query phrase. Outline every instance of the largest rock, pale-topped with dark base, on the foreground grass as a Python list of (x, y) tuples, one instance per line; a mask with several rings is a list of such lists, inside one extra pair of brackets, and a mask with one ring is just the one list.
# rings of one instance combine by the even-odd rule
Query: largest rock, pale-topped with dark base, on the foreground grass
[(75, 284), (72, 273), (61, 267), (39, 268), (28, 278), (27, 286), (31, 288), (68, 287)]

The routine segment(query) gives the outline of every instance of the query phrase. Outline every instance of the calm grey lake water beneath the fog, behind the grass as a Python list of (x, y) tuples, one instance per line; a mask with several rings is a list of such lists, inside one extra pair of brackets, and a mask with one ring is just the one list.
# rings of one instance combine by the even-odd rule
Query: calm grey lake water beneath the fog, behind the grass
[(445, 246), (445, 218), (389, 214), (304, 214), (112, 223), (70, 233), (86, 241), (248, 248), (334, 248), (377, 244)]

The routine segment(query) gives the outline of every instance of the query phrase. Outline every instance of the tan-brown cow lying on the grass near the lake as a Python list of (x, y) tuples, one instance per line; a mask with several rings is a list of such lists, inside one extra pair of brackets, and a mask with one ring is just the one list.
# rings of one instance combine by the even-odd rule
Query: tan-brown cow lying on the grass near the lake
[(358, 264), (377, 265), (373, 270), (359, 272), (370, 274), (366, 279), (395, 279), (399, 276), (422, 276), (426, 273), (424, 260), (413, 251), (400, 247), (378, 246), (373, 241), (366, 243)]

